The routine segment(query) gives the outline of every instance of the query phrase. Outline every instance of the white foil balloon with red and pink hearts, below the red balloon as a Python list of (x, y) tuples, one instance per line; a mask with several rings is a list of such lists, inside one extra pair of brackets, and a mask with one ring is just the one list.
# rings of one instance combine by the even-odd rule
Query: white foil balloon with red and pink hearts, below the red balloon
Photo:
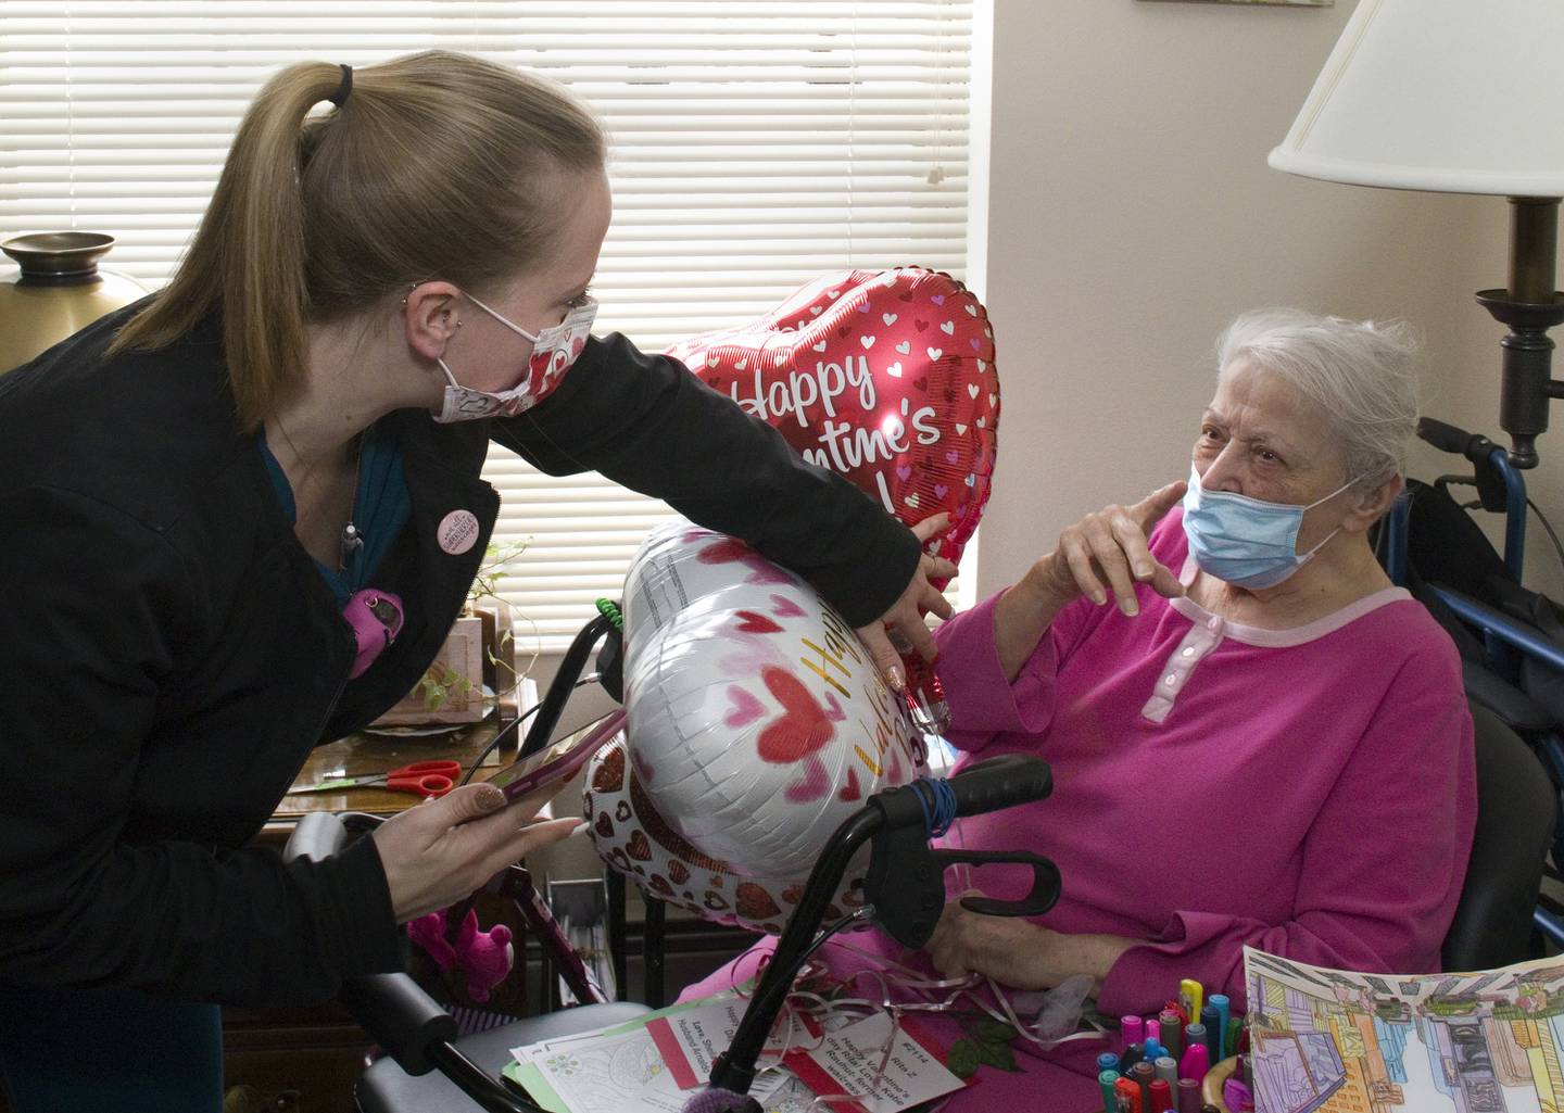
[(658, 528), (630, 566), (624, 617), (629, 775), (613, 811), (626, 814), (588, 816), (612, 866), (640, 863), (646, 880), (632, 849), (655, 844), (687, 869), (699, 858), (710, 875), (763, 885), (785, 911), (837, 825), (923, 771), (899, 697), (848, 622), (744, 542), (683, 521)]

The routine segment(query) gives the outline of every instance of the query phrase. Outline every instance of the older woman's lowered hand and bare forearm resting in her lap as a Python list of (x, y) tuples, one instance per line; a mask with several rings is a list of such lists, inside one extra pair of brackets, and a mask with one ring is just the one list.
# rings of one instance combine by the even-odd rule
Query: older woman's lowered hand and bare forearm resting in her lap
[[(982, 896), (968, 889), (962, 896)], [(1012, 916), (979, 916), (951, 900), (929, 939), (934, 966), (946, 977), (981, 974), (1012, 990), (1053, 990), (1076, 974), (1093, 993), (1118, 957), (1137, 946), (1118, 935), (1065, 935)]]

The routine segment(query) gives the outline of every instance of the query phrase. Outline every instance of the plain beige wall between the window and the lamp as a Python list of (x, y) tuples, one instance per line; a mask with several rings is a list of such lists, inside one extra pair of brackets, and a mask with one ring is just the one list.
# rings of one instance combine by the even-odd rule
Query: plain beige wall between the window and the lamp
[[(1265, 166), (1353, 6), (995, 0), (974, 285), (1004, 417), (982, 594), (1087, 510), (1187, 474), (1212, 339), (1245, 308), (1408, 317), (1426, 339), (1425, 408), (1498, 431), (1501, 330), (1472, 292), (1505, 281), (1505, 203)], [(1533, 485), (1555, 511), (1564, 442), (1541, 450)], [(1420, 455), (1412, 472), (1437, 466)], [(1551, 552), (1531, 561), (1558, 583)]]

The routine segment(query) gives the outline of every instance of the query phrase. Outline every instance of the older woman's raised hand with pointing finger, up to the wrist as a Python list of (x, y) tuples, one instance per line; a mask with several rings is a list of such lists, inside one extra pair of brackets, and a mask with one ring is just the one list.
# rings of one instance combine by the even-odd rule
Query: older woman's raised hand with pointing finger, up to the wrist
[(1178, 599), (1184, 585), (1151, 555), (1146, 536), (1178, 505), (1187, 486), (1179, 480), (1134, 506), (1114, 505), (1087, 514), (1059, 535), (1059, 547), (1038, 560), (1028, 578), (1059, 602), (1087, 596), (1101, 607), (1112, 592), (1125, 614), (1140, 613), (1135, 583), (1150, 583), (1159, 596)]

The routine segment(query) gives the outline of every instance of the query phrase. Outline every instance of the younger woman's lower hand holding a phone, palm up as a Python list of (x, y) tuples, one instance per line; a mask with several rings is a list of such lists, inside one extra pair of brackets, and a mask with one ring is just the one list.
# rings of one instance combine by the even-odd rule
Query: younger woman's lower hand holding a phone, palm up
[(380, 824), (375, 849), (397, 924), (455, 904), (580, 827), (585, 819), (533, 819), (558, 788), (505, 807), (505, 794), (493, 785), (463, 785)]

